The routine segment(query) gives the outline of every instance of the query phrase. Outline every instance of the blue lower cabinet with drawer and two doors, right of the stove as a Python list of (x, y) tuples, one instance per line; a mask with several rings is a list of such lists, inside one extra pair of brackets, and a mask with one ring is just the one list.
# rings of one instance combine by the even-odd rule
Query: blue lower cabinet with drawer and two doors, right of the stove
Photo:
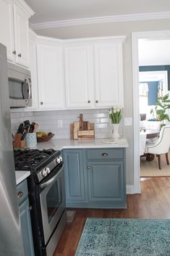
[(126, 207), (125, 149), (64, 149), (67, 207)]

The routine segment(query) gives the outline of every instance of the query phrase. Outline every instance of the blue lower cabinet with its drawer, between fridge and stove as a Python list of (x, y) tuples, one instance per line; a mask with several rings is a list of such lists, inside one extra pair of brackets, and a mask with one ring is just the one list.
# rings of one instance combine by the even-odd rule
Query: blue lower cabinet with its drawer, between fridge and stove
[(25, 256), (34, 256), (33, 235), (30, 222), (30, 208), (27, 192), (27, 180), (17, 185), (17, 197)]

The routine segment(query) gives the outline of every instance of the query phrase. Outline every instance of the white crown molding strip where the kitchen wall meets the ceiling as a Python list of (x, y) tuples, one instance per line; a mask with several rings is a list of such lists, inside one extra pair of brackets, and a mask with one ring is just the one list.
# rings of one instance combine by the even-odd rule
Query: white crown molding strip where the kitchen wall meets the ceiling
[(56, 20), (51, 22), (41, 22), (41, 23), (30, 23), (30, 28), (33, 30), (43, 29), (43, 28), (59, 28), (59, 27), (69, 27), (74, 25), (87, 25), (95, 23), (106, 23), (106, 22), (126, 22), (135, 20), (161, 20), (170, 19), (170, 12), (151, 12), (151, 13), (139, 13), (135, 15), (114, 15), (114, 16), (104, 16), (104, 17), (89, 17), (75, 20)]

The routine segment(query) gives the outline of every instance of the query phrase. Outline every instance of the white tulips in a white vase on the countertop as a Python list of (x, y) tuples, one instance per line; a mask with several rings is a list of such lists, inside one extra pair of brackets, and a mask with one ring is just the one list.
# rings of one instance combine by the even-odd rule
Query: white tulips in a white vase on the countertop
[(119, 123), (122, 120), (122, 107), (121, 106), (113, 106), (109, 110), (109, 117), (111, 120), (111, 125), (113, 127), (112, 136), (113, 139), (119, 138)]

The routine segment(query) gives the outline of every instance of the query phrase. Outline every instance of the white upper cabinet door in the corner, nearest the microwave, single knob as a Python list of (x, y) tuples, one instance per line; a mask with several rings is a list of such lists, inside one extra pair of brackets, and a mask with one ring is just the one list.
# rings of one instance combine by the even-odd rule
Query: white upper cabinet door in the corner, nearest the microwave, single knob
[(64, 108), (63, 48), (38, 44), (38, 98), (40, 109)]

